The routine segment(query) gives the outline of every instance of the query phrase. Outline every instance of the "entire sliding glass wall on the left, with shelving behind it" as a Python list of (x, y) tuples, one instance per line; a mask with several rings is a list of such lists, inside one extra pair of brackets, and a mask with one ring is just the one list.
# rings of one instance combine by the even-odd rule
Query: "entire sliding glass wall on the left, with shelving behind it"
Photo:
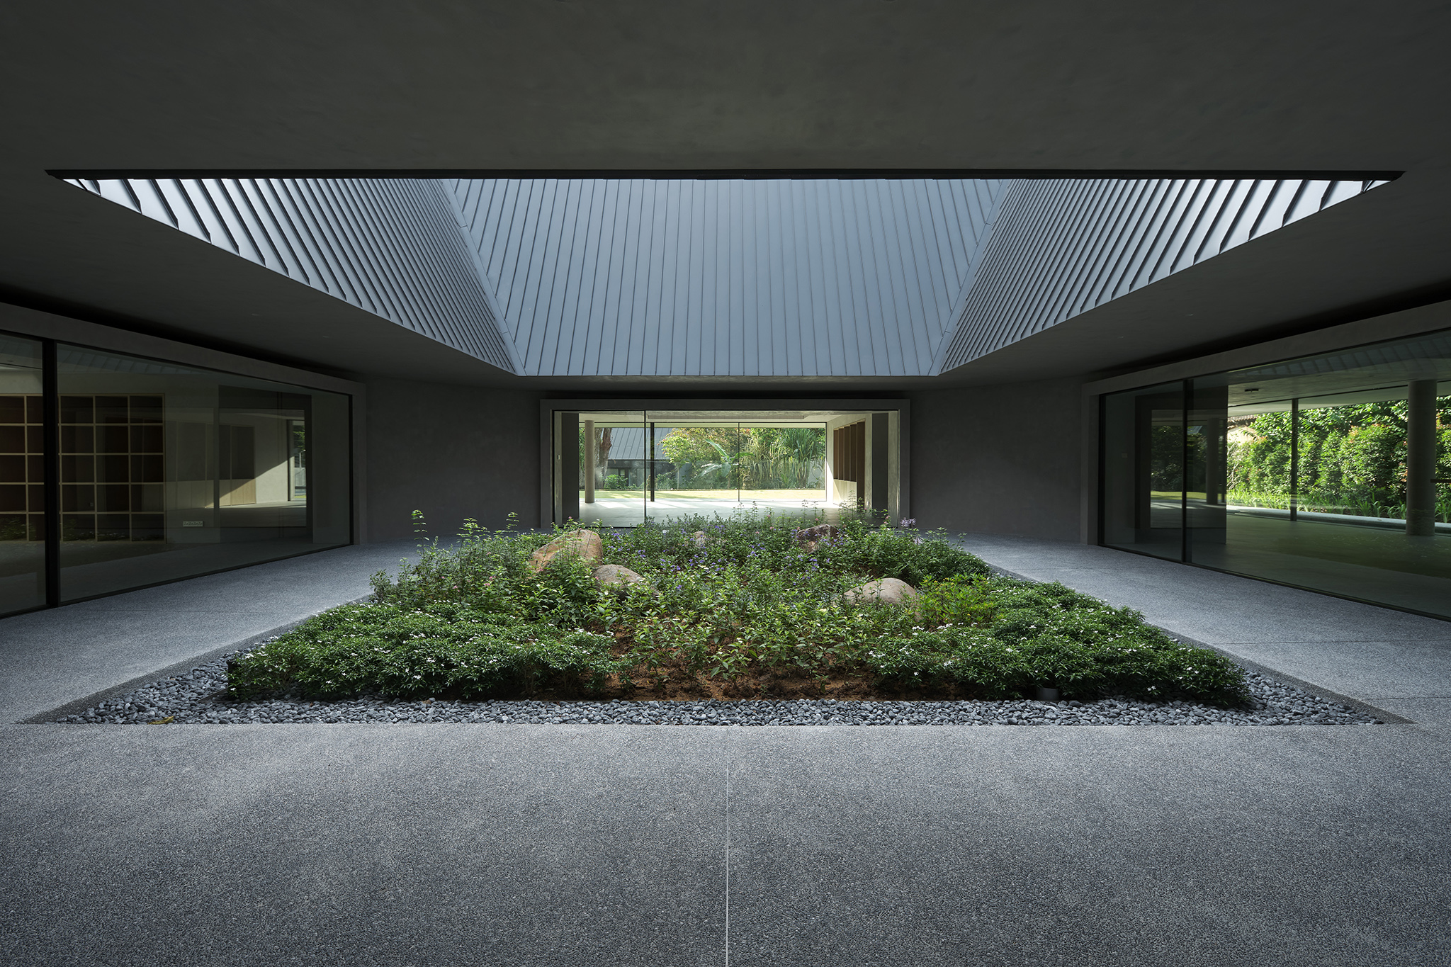
[(0, 333), (0, 615), (350, 544), (350, 410)]

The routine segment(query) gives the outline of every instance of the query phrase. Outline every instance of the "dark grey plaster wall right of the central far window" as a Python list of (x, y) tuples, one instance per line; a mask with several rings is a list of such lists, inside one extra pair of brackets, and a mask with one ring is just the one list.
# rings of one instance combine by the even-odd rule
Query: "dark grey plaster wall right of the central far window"
[(1078, 380), (910, 394), (917, 526), (1078, 541)]

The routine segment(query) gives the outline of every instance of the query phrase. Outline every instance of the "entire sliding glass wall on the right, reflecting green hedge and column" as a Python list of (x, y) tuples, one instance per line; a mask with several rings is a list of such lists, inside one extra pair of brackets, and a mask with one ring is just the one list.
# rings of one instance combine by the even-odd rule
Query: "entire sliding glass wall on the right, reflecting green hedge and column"
[(1104, 545), (1451, 618), (1451, 332), (1101, 406)]

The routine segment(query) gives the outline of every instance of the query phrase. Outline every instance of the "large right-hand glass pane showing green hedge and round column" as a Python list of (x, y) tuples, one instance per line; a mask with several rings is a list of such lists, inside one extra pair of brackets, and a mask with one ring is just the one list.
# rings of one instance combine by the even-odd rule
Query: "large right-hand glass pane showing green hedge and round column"
[[(1223, 539), (1194, 525), (1191, 483), (1196, 564), (1451, 616), (1451, 484), (1432, 483), (1451, 480), (1451, 335), (1196, 380), (1191, 433), (1212, 423), (1220, 393)], [(1413, 422), (1425, 428), (1421, 464)], [(1422, 499), (1407, 491), (1412, 465), (1428, 477), (1429, 534), (1407, 526), (1407, 499)]]

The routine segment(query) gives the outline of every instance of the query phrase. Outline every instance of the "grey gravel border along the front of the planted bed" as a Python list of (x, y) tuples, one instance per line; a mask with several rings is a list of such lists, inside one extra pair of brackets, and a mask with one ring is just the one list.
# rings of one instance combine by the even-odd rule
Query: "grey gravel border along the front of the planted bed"
[[(97, 725), (248, 722), (511, 722), (521, 725), (1380, 725), (1294, 686), (1246, 671), (1252, 705), (1185, 702), (444, 702), (364, 696), (226, 702), (226, 658), (110, 699), (57, 722)], [(165, 721), (165, 722), (163, 722)]]

